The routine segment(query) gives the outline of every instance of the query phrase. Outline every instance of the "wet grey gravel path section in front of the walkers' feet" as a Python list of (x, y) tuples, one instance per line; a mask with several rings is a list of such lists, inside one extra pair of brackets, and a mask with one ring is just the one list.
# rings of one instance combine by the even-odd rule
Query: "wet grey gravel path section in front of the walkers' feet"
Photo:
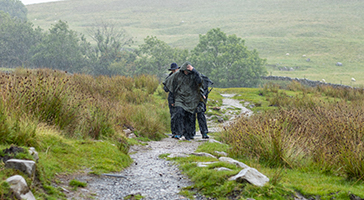
[[(201, 136), (200, 136), (201, 137)], [(197, 138), (195, 139), (197, 140)], [(182, 142), (165, 138), (162, 141), (148, 142), (143, 148), (134, 147), (131, 154), (134, 163), (120, 175), (125, 178), (102, 177), (89, 182), (89, 187), (97, 193), (97, 199), (123, 199), (131, 194), (140, 194), (143, 199), (186, 199), (178, 194), (181, 188), (191, 185), (173, 162), (160, 159), (166, 153), (192, 153), (197, 141)]]

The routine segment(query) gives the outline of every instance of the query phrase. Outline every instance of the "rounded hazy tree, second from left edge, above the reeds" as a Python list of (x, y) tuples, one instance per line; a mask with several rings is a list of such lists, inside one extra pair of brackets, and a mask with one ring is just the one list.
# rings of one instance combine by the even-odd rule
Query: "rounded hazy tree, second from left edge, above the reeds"
[[(82, 37), (83, 38), (83, 37)], [(37, 67), (78, 72), (85, 60), (78, 34), (66, 22), (54, 24), (39, 45), (33, 48), (33, 64)]]

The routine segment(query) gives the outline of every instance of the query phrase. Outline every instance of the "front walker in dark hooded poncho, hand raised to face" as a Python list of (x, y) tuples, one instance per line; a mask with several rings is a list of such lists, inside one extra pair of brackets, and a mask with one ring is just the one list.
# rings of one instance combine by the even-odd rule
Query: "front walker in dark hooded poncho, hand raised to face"
[(186, 140), (193, 139), (194, 113), (200, 101), (200, 90), (202, 89), (200, 73), (187, 61), (163, 84), (173, 93), (175, 100), (174, 119), (178, 119), (175, 121), (175, 138), (179, 139), (184, 136)]

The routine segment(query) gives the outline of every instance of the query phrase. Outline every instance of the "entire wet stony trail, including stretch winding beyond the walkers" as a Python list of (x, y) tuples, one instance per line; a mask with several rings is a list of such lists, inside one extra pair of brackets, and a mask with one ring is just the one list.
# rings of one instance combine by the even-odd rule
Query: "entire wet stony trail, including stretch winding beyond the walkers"
[[(234, 95), (223, 95), (223, 105), (221, 109), (227, 109), (225, 112), (229, 119), (235, 118), (233, 113), (229, 113), (231, 107), (240, 108), (240, 113), (251, 115), (252, 111), (245, 108), (238, 100), (232, 99)], [(227, 120), (224, 124), (228, 123)], [(210, 132), (218, 132), (221, 124), (208, 122)], [(213, 140), (210, 138), (210, 140)], [(199, 145), (209, 140), (202, 139), (199, 132), (191, 142), (181, 142), (180, 140), (170, 137), (161, 141), (150, 141), (146, 146), (133, 146), (130, 149), (130, 157), (134, 160), (133, 164), (115, 174), (104, 174), (102, 176), (93, 176), (79, 174), (76, 178), (80, 181), (87, 182), (86, 188), (71, 191), (64, 188), (68, 199), (103, 199), (117, 200), (124, 199), (126, 196), (141, 195), (143, 199), (187, 199), (179, 195), (179, 191), (186, 186), (192, 185), (188, 177), (184, 176), (178, 169), (178, 166), (171, 161), (159, 158), (161, 154), (173, 153), (193, 153)], [(66, 178), (62, 181), (68, 183)], [(195, 199), (208, 199), (203, 195), (196, 195)]]

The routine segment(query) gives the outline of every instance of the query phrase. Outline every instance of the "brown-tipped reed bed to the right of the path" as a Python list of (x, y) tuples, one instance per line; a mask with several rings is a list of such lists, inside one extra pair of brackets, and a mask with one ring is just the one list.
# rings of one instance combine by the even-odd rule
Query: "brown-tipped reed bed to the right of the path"
[(291, 88), (302, 94), (292, 97), (269, 87), (265, 95), (276, 110), (241, 117), (225, 127), (223, 139), (232, 146), (232, 154), (270, 167), (364, 177), (362, 90), (327, 86), (300, 90), (296, 84)]

